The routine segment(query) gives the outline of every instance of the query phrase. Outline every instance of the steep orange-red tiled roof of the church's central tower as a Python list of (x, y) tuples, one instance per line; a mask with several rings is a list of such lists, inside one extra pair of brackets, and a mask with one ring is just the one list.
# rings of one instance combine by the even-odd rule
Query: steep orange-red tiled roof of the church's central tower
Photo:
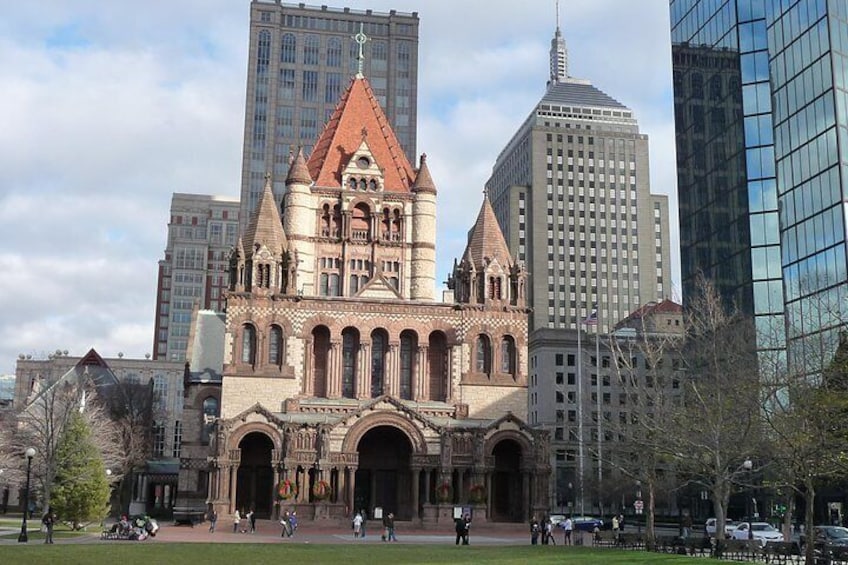
[(342, 170), (362, 144), (363, 136), (367, 136), (371, 154), (383, 169), (384, 190), (409, 192), (415, 172), (364, 78), (351, 80), (312, 149), (306, 166), (315, 184), (340, 188)]

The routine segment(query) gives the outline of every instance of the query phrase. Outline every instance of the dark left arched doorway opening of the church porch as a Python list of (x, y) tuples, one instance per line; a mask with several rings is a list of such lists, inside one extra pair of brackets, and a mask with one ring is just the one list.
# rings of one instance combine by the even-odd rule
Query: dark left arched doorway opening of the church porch
[(236, 508), (242, 515), (253, 509), (257, 518), (270, 518), (274, 510), (274, 442), (264, 433), (251, 432), (239, 442), (239, 449)]

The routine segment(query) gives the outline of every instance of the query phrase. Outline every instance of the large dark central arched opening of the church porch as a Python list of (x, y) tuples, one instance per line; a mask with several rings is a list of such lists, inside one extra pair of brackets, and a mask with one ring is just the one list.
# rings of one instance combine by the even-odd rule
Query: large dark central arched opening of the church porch
[(362, 436), (357, 451), (354, 510), (365, 509), (370, 519), (380, 507), (383, 515), (393, 512), (398, 520), (411, 520), (412, 443), (407, 435), (394, 426), (377, 426)]

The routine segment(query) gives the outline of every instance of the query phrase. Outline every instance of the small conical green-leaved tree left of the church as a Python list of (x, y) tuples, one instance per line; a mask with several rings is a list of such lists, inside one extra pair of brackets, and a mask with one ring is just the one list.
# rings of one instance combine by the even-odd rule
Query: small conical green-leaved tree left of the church
[(91, 426), (74, 412), (60, 439), (51, 507), (78, 530), (100, 522), (109, 511), (110, 486)]

